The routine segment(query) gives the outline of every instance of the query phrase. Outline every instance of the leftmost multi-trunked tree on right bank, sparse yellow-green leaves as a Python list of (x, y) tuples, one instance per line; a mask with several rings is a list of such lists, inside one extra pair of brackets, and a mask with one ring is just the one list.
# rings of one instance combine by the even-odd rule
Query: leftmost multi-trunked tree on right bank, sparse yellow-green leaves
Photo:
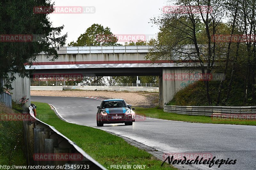
[[(196, 59), (202, 74), (210, 74), (215, 59), (220, 55), (215, 42), (212, 42), (212, 36), (216, 34), (216, 28), (223, 17), (223, 2), (178, 0), (175, 5), (184, 9), (170, 7), (169, 12), (163, 13), (160, 19), (152, 19), (154, 24), (160, 26), (160, 33), (156, 48), (150, 51), (147, 59)], [(203, 35), (204, 39), (199, 39), (199, 35)], [(192, 48), (187, 44), (193, 44)], [(204, 79), (204, 85), (211, 105), (209, 81)]]

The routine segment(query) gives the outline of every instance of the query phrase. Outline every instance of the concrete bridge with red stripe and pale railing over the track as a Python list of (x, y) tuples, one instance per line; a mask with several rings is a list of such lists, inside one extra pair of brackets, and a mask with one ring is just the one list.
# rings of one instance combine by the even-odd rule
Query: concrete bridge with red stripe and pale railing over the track
[[(188, 83), (188, 80), (169, 81), (163, 75), (186, 74), (188, 63), (196, 61), (146, 60), (153, 46), (91, 46), (63, 47), (58, 50), (59, 58), (54, 62), (45, 53), (36, 57), (36, 62), (26, 69), (34, 74), (82, 73), (85, 76), (159, 76), (160, 106), (170, 101), (173, 95)], [(199, 68), (198, 68), (199, 69)]]

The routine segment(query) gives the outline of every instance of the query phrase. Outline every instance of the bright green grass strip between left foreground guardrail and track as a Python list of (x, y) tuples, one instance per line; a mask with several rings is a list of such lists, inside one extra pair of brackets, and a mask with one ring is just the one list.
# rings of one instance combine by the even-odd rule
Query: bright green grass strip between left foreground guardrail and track
[[(36, 104), (38, 118), (54, 126), (63, 135), (75, 142), (93, 159), (108, 168), (110, 165), (146, 165), (146, 169), (176, 169), (169, 164), (156, 160), (151, 154), (128, 144), (121, 137), (109, 134), (103, 130), (76, 125), (60, 120), (46, 103)], [(96, 121), (95, 121), (96, 123)]]

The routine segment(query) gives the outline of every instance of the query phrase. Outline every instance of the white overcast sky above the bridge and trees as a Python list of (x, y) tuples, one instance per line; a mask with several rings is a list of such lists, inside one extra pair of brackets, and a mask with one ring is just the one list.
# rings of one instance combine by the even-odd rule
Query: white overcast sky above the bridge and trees
[(76, 41), (92, 24), (109, 27), (114, 34), (156, 34), (158, 27), (150, 18), (161, 14), (166, 0), (52, 0), (54, 6), (92, 6), (95, 13), (50, 14), (53, 26), (64, 25), (66, 45)]

